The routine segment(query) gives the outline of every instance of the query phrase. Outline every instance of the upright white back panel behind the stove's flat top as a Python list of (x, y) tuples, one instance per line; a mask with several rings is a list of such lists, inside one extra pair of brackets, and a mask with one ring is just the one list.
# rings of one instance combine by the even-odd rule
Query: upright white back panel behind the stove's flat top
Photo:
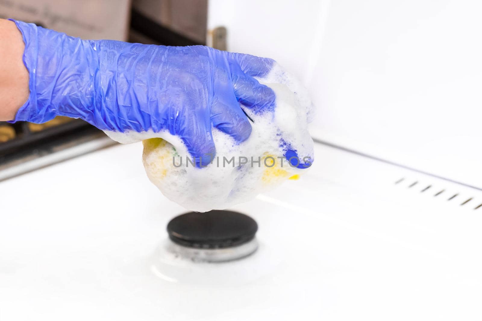
[(276, 59), (308, 87), (310, 133), (482, 186), (482, 2), (209, 2), (228, 50)]

